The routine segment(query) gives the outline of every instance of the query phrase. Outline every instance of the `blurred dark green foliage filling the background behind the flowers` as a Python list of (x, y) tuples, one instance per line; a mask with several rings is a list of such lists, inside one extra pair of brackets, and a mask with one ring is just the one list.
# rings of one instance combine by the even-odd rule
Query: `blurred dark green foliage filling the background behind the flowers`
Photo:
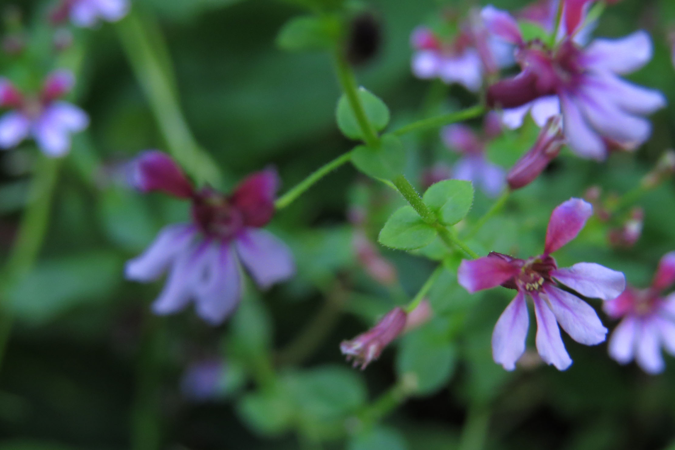
[[(282, 26), (306, 14), (303, 4), (315, 2), (321, 3), (134, 1), (135, 17), (155, 30), (155, 39), (165, 40), (169, 54), (159, 59), (170, 65), (184, 116), (223, 172), (225, 187), (271, 164), (285, 191), (353, 145), (335, 126), (340, 89), (330, 55), (276, 45)], [(39, 30), (49, 2), (14, 3)], [(431, 0), (350, 5), (371, 12), (381, 25), (381, 47), (357, 76), (389, 105), (392, 129), (475, 103), (459, 86), (445, 90), (414, 79), (408, 45), (411, 30), (433, 20), (441, 7), (464, 13), (473, 6)], [(340, 341), (404, 303), (434, 268), (421, 254), (381, 249), (399, 282), (386, 289), (365, 274), (354, 253), (348, 210), (365, 207), (365, 232), (374, 242), (403, 200), (350, 166), (319, 182), (271, 224), (294, 251), (296, 278), (267, 293), (250, 286), (234, 318), (218, 328), (189, 309), (151, 316), (148, 305), (160, 286), (124, 281), (124, 261), (163, 225), (185, 220), (188, 211), (161, 195), (138, 195), (119, 175), (119, 165), (138, 151), (168, 145), (121, 45), (128, 20), (75, 31), (86, 44), (76, 97), (92, 124), (75, 137), (63, 162), (41, 257), (4, 301), (5, 314), (17, 324), (0, 372), (0, 450), (634, 450), (672, 443), (672, 360), (664, 374), (647, 376), (612, 361), (605, 344), (583, 347), (565, 336), (574, 360), (566, 372), (535, 358), (504, 372), (491, 359), (490, 336), (512, 291), (468, 295), (454, 275), (459, 257), (445, 261), (448, 270), (429, 293), (431, 322), (400, 339), (365, 372), (345, 364)], [(607, 9), (596, 34), (624, 36), (637, 28), (650, 30), (655, 55), (631, 78), (661, 89), (670, 100), (653, 116), (651, 141), (603, 164), (564, 151), (472, 239), (479, 253), (537, 254), (555, 205), (583, 196), (592, 185), (605, 195), (628, 193), (673, 145), (675, 73), (667, 34), (675, 28), (675, 3), (621, 1)], [(2, 64), (10, 70), (11, 61)], [(531, 125), (507, 134), (489, 146), (490, 158), (510, 166), (535, 134)], [(416, 185), (424, 168), (456, 158), (436, 131), (407, 136), (404, 143), (406, 176)], [(28, 198), (33, 155), (30, 145), (0, 155), (5, 249)], [(646, 286), (659, 257), (675, 247), (673, 187), (668, 180), (635, 201), (645, 210), (637, 245), (611, 248), (607, 229), (620, 220), (592, 220), (558, 253), (560, 265), (596, 261)], [(458, 230), (490, 205), (477, 193)], [(431, 250), (417, 253), (433, 256)], [(213, 357), (225, 361), (217, 386), (211, 398), (197, 401), (181, 389), (182, 377), (191, 364)]]

